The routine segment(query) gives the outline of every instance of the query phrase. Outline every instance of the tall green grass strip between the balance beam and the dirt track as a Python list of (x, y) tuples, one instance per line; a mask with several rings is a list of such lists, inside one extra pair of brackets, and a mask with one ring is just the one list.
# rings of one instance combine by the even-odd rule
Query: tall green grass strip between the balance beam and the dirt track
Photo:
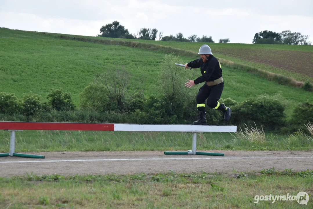
[[(254, 129), (256, 130), (256, 129)], [(278, 135), (257, 130), (247, 133), (199, 133), (198, 150), (309, 150), (313, 137), (304, 133)], [(111, 131), (29, 131), (16, 132), (16, 152), (38, 151), (145, 151), (188, 150), (191, 133)], [(0, 131), (0, 152), (10, 146), (8, 131)]]

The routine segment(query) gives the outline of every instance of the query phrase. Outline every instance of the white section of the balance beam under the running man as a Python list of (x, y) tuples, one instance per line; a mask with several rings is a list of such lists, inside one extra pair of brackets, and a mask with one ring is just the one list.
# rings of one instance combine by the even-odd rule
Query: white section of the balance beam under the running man
[(236, 132), (237, 126), (193, 126), (167, 124), (114, 124), (114, 131), (167, 131), (167, 132)]

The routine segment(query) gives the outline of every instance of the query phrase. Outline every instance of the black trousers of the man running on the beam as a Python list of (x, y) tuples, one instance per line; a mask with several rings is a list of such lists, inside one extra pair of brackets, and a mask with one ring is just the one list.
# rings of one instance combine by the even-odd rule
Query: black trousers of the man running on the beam
[[(224, 88), (224, 82), (215, 85), (215, 86), (208, 86), (206, 83), (204, 83), (203, 86), (199, 89), (199, 92), (197, 94), (197, 104), (204, 104), (205, 100), (208, 98), (207, 104), (211, 108), (215, 108), (218, 105), (218, 100), (221, 98), (222, 92)], [(198, 107), (198, 110), (204, 111), (204, 107), (200, 108)]]

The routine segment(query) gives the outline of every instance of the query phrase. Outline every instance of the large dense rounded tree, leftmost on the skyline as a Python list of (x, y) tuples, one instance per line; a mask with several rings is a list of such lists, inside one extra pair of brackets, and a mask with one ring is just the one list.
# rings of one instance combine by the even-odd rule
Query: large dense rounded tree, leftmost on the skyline
[(100, 29), (98, 36), (100, 37), (109, 37), (109, 38), (126, 38), (134, 39), (135, 37), (129, 33), (123, 25), (120, 25), (120, 22), (114, 21), (113, 23), (106, 24)]

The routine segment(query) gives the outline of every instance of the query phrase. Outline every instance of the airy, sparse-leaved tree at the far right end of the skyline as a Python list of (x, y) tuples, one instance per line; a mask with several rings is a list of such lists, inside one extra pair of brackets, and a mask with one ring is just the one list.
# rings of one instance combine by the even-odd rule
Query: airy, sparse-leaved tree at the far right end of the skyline
[(301, 33), (292, 33), (290, 30), (284, 30), (280, 33), (283, 44), (294, 45), (311, 45), (311, 42), (307, 41), (310, 37), (308, 35), (302, 35)]

